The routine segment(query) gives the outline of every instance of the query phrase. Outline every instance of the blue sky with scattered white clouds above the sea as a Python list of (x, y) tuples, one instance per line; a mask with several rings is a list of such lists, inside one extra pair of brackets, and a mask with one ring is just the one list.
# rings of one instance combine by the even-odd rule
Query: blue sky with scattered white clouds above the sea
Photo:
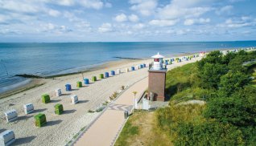
[(0, 42), (256, 39), (255, 0), (0, 0)]

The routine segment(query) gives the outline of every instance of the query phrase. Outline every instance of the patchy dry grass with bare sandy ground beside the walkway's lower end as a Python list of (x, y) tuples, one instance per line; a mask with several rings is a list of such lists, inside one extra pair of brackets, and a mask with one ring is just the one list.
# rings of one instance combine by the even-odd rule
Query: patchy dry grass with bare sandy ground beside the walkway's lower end
[(114, 145), (173, 145), (157, 128), (155, 117), (155, 112), (134, 112)]

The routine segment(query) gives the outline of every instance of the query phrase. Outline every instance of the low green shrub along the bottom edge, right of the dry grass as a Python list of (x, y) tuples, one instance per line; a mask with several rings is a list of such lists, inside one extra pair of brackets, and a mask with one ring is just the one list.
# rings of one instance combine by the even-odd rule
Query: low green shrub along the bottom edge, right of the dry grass
[(229, 124), (205, 122), (180, 123), (175, 129), (175, 145), (245, 145), (242, 131)]

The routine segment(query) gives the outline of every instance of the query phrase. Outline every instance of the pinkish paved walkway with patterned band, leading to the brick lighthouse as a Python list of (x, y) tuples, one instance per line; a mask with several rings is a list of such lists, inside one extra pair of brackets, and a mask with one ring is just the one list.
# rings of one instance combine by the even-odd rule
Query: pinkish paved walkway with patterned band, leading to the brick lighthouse
[(124, 111), (134, 105), (133, 91), (138, 99), (147, 89), (148, 78), (142, 79), (122, 93), (114, 103), (93, 123), (93, 125), (76, 141), (75, 146), (109, 146), (114, 143), (122, 124), (126, 121)]

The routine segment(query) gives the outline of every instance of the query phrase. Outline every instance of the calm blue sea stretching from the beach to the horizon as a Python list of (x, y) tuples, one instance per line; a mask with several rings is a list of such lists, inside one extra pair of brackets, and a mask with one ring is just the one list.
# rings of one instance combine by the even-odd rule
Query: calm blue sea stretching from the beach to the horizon
[(222, 48), (256, 47), (256, 41), (197, 43), (0, 43), (0, 92), (27, 80), (17, 74), (57, 75), (85, 70), (114, 57), (148, 58)]

